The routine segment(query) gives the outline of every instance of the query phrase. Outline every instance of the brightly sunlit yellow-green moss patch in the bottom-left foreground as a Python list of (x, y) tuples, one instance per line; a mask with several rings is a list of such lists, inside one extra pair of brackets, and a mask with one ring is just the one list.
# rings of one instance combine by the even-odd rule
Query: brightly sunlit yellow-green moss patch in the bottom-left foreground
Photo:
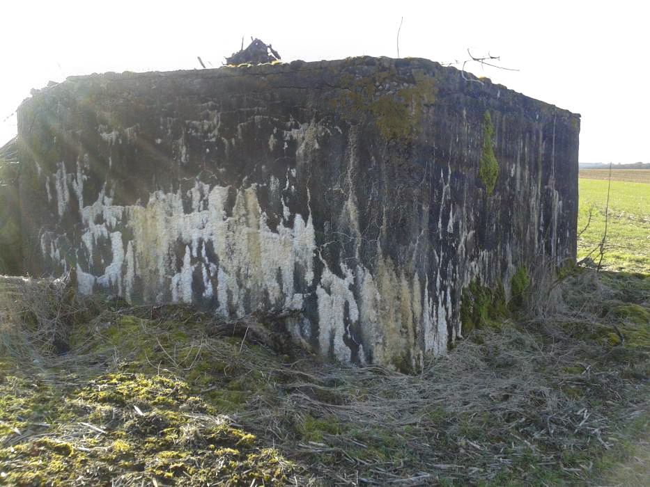
[[(42, 413), (33, 383), (6, 378), (0, 433), (10, 446), (0, 449), (0, 471), (9, 485), (110, 485), (146, 472), (160, 484), (249, 486), (282, 483), (294, 470), (180, 378), (120, 372), (79, 386), (56, 391)], [(41, 399), (57, 395), (45, 391)], [(49, 422), (34, 427), (43, 415)]]

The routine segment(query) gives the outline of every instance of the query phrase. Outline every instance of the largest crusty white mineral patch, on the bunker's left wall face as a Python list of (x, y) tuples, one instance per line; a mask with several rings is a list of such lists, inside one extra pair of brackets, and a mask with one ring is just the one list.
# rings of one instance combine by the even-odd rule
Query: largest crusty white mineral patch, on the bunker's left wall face
[[(285, 214), (293, 217), (293, 228), (285, 220), (273, 232), (259, 206), (257, 186), (238, 191), (230, 216), (224, 208), (229, 191), (229, 187), (196, 182), (186, 195), (191, 202), (186, 213), (180, 193), (157, 191), (146, 207), (121, 207), (112, 205), (102, 189), (98, 200), (81, 210), (82, 242), (90, 264), (100, 264), (93, 262), (100, 243), (110, 246), (112, 260), (102, 276), (78, 269), (80, 291), (90, 293), (96, 283), (130, 299), (138, 276), (149, 294), (166, 287), (173, 301), (191, 303), (198, 273), (203, 297), (216, 294), (218, 312), (224, 315), (243, 314), (245, 297), (253, 309), (266, 302), (273, 308), (302, 306), (302, 295), (295, 296), (294, 273), (300, 271), (308, 283), (314, 280), (316, 237), (311, 215), (304, 221), (300, 214)], [(126, 250), (117, 227), (127, 227), (133, 234)], [(173, 259), (178, 244), (185, 248), (180, 269)], [(207, 245), (218, 265), (208, 260)], [(56, 257), (53, 250), (49, 254)]]

